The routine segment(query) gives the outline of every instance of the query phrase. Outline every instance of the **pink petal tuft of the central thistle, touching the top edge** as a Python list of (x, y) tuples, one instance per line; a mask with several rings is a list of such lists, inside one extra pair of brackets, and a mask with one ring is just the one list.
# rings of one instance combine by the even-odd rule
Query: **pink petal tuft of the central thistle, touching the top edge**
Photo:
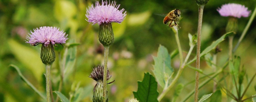
[[(112, 1), (112, 3), (109, 4), (108, 2), (104, 2), (102, 0), (102, 4), (97, 1), (95, 3), (95, 7), (92, 6), (89, 7), (89, 9), (86, 8), (86, 13), (85, 16), (88, 18), (85, 19), (88, 22), (92, 22), (94, 24), (98, 23), (99, 25), (101, 23), (111, 23), (111, 22), (116, 22), (116, 23), (121, 23), (124, 21), (124, 18), (126, 16), (126, 11), (124, 12), (124, 9), (118, 10), (120, 7), (120, 4), (116, 5), (116, 1)], [(124, 13), (123, 13), (124, 12)]]

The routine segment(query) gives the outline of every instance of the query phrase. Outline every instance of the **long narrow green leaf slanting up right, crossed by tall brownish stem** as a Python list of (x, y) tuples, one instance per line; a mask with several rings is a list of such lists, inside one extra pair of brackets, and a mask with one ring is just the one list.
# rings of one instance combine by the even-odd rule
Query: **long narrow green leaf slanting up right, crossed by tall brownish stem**
[[(204, 51), (202, 51), (202, 53), (200, 54), (200, 57), (204, 56), (205, 54), (209, 53), (212, 49), (214, 49), (220, 42), (222, 42), (223, 40), (225, 40), (225, 38), (230, 35), (230, 34), (233, 34), (233, 32), (229, 32), (229, 33), (226, 33), (224, 35), (222, 35), (218, 40), (212, 42), (212, 44), (208, 47), (206, 47), (204, 49)], [(192, 63), (196, 61), (196, 56), (195, 58), (193, 58), (191, 61), (189, 61), (186, 65)]]

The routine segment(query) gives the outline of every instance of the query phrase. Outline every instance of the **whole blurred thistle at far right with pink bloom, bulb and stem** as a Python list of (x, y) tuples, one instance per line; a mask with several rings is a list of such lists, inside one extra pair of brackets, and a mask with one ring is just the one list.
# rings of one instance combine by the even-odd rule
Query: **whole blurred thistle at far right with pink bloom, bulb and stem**
[[(247, 7), (241, 4), (224, 4), (221, 6), (221, 8), (217, 9), (217, 11), (220, 13), (223, 17), (229, 17), (228, 18), (228, 24), (226, 27), (226, 32), (237, 32), (238, 29), (238, 18), (241, 17), (248, 17), (251, 13), (251, 11), (248, 10)], [(229, 37), (229, 60), (232, 60), (233, 54), (233, 39), (234, 35), (230, 35)]]

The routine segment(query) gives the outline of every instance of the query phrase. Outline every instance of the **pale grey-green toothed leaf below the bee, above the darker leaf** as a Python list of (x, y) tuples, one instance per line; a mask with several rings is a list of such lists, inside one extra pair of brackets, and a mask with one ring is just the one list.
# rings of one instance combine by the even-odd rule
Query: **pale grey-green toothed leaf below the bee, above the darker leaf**
[(171, 67), (171, 57), (167, 49), (160, 45), (158, 48), (157, 57), (153, 56), (153, 58), (155, 62), (153, 73), (156, 76), (156, 80), (162, 88), (167, 87), (173, 73), (173, 68)]

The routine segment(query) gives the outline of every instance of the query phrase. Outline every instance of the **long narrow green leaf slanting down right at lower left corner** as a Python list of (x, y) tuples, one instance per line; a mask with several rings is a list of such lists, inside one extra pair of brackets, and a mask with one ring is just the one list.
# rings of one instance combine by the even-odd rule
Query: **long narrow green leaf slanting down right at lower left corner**
[(36, 87), (35, 87), (33, 84), (31, 84), (31, 83), (28, 81), (28, 79), (26, 79), (26, 78), (22, 75), (22, 73), (20, 72), (20, 69), (19, 69), (17, 66), (12, 65), (12, 64), (11, 64), (10, 66), (13, 67), (13, 68), (18, 72), (18, 74), (19, 74), (19, 76), (21, 77), (21, 79), (22, 79), (25, 83), (27, 83), (30, 88), (32, 88), (41, 98), (43, 98), (44, 100), (46, 100), (45, 95), (43, 95), (40, 91), (38, 91), (38, 90), (36, 89)]

